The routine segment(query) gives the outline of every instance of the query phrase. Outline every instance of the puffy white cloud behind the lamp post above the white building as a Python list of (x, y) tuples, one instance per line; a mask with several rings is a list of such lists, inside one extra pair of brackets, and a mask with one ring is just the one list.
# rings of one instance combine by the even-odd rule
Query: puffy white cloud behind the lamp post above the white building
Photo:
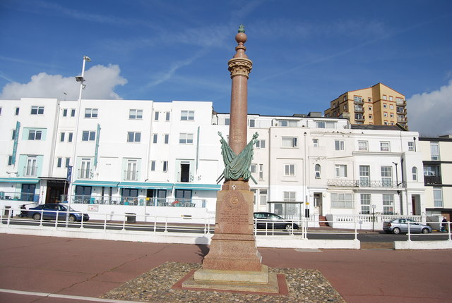
[[(85, 71), (85, 89), (83, 99), (121, 99), (114, 92), (117, 85), (125, 85), (127, 80), (122, 78), (117, 65), (93, 66)], [(30, 82), (11, 82), (1, 91), (0, 99), (20, 99), (23, 97), (58, 98), (67, 100), (78, 99), (80, 85), (73, 77), (62, 75), (48, 75), (39, 73), (33, 75)], [(66, 94), (64, 94), (66, 93)]]

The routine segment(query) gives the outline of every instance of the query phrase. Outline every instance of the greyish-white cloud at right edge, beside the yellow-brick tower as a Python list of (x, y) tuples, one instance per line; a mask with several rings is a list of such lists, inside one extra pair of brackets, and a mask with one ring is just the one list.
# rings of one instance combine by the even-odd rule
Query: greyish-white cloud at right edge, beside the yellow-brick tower
[(433, 92), (407, 99), (408, 126), (422, 136), (452, 135), (452, 80)]

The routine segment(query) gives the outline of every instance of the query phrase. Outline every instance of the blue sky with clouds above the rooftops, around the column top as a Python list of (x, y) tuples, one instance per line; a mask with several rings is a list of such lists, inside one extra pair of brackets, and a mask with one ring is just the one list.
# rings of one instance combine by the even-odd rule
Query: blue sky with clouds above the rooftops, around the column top
[(0, 99), (77, 99), (73, 76), (88, 55), (84, 98), (213, 101), (229, 112), (227, 61), (243, 23), (249, 113), (324, 111), (383, 82), (407, 97), (412, 130), (443, 135), (451, 19), (448, 0), (2, 0)]

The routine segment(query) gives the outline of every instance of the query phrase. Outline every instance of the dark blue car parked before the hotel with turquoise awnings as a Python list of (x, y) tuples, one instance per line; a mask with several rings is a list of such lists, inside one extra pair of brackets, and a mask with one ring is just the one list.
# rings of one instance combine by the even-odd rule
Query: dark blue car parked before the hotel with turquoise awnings
[[(57, 218), (57, 212), (59, 221), (66, 220), (67, 207), (61, 204), (41, 204), (36, 207), (32, 207), (28, 209), (27, 217), (34, 218), (35, 220), (41, 220), (42, 216), (44, 220), (55, 220), (55, 218)], [(89, 219), (90, 216), (88, 216), (88, 214), (83, 214), (83, 222), (86, 222)], [(82, 221), (82, 214), (71, 209), (69, 212), (69, 221)]]

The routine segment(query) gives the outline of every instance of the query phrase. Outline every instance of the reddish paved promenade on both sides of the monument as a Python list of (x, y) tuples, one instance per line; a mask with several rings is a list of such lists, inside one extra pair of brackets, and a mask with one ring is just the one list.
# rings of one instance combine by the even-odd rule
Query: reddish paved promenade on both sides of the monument
[[(452, 300), (448, 249), (258, 250), (270, 267), (318, 269), (348, 303)], [(166, 261), (200, 263), (207, 251), (203, 245), (0, 234), (0, 302), (102, 302), (95, 298)]]

